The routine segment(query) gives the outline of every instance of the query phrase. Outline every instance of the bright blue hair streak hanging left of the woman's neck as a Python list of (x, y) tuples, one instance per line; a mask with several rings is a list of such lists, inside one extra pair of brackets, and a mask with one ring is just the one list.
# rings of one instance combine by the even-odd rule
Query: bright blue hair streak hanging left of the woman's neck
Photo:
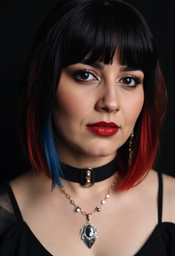
[(63, 185), (60, 180), (60, 174), (62, 174), (62, 169), (61, 169), (58, 152), (56, 151), (56, 143), (55, 143), (53, 132), (52, 132), (51, 119), (49, 117), (46, 121), (44, 131), (41, 135), (41, 139), (42, 139), (42, 144), (45, 151), (45, 156), (47, 158), (49, 172), (52, 177), (51, 191), (55, 188), (56, 185), (62, 188)]

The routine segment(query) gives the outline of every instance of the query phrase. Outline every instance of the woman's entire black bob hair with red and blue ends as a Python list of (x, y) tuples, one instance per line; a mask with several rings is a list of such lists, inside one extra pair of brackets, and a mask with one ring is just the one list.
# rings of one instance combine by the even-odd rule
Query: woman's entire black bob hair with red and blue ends
[(121, 190), (129, 189), (152, 168), (167, 106), (157, 46), (144, 17), (121, 0), (61, 0), (42, 23), (27, 61), (18, 107), (18, 131), (24, 154), (36, 170), (61, 186), (51, 111), (62, 69), (88, 58), (87, 64), (121, 65), (144, 71), (144, 106), (135, 124), (133, 162), (128, 141), (118, 149)]

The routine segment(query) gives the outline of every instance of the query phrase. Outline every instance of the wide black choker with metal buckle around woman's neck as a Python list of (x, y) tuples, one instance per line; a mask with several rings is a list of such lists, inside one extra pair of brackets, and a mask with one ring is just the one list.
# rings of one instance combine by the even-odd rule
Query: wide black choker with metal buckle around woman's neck
[(87, 167), (80, 169), (64, 163), (61, 163), (61, 167), (63, 173), (63, 175), (60, 175), (61, 178), (72, 182), (78, 182), (85, 187), (90, 187), (95, 182), (106, 180), (118, 171), (117, 157), (110, 163), (97, 168)]

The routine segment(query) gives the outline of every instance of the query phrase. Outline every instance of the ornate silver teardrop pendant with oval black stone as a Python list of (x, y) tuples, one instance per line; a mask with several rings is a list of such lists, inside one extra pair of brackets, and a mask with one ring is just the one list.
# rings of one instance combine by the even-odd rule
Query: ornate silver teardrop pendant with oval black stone
[(98, 238), (97, 233), (98, 230), (90, 223), (90, 215), (87, 215), (88, 221), (87, 224), (80, 231), (80, 235), (82, 236), (82, 240), (85, 245), (90, 249), (94, 244), (96, 238)]

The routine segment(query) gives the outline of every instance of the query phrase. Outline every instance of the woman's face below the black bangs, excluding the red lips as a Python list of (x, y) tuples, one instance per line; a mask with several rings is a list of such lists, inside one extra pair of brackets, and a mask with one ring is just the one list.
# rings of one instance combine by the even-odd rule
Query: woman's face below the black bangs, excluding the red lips
[[(78, 63), (63, 69), (53, 109), (59, 149), (110, 156), (126, 142), (143, 107), (144, 73), (124, 67), (116, 57), (112, 65)], [(87, 129), (100, 121), (116, 123), (118, 132), (103, 136)]]

